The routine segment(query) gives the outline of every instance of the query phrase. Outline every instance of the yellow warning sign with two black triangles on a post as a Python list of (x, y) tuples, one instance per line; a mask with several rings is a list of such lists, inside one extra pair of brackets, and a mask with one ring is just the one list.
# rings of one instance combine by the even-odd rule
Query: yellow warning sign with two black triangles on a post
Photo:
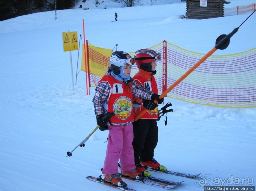
[(64, 52), (78, 50), (77, 31), (62, 33)]

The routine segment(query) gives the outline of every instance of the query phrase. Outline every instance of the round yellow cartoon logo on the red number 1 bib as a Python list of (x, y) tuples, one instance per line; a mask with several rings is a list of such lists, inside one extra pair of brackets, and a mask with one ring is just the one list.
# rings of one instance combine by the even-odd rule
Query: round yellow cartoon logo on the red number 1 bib
[(132, 112), (132, 100), (121, 96), (114, 102), (114, 113), (119, 119), (127, 119)]

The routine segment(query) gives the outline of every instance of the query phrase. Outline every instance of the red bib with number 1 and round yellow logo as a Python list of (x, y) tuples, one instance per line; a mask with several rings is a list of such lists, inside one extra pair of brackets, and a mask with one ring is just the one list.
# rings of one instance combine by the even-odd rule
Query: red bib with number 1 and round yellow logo
[[(108, 97), (107, 112), (113, 112), (115, 115), (110, 118), (110, 122), (112, 124), (125, 124), (133, 121), (132, 90), (111, 75), (104, 75), (99, 83), (101, 82), (108, 82), (111, 87)], [(132, 82), (130, 86), (132, 86)]]

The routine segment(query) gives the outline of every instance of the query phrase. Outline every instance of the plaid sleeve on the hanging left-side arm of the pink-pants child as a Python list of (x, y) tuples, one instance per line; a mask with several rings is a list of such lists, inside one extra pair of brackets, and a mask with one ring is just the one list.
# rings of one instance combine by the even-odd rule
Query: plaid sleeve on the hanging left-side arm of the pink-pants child
[(111, 87), (107, 82), (101, 82), (96, 87), (95, 95), (92, 100), (95, 115), (105, 115), (106, 110), (104, 109), (104, 104), (108, 103), (110, 90)]

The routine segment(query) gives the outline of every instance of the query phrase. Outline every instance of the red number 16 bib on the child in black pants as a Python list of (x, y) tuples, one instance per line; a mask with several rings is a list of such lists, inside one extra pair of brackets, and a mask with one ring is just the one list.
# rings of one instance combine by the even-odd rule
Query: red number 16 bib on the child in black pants
[[(137, 84), (139, 82), (139, 85), (142, 85), (143, 87), (148, 88), (151, 92), (154, 92), (154, 93), (158, 94), (158, 89), (157, 89), (157, 84), (156, 84), (156, 81), (155, 81), (155, 77), (150, 76), (150, 75), (146, 76), (146, 75), (143, 75), (143, 73), (145, 73), (146, 75), (148, 74), (148, 72), (141, 70), (141, 71), (139, 71), (139, 73), (137, 73), (133, 77), (133, 80), (136, 80)], [(140, 102), (142, 102), (142, 101), (140, 101)], [(134, 110), (135, 116), (137, 116), (139, 113), (141, 113), (143, 110), (145, 110), (145, 107), (143, 107), (141, 105), (141, 107), (139, 107), (139, 108), (134, 107), (133, 110)], [(135, 111), (135, 110), (139, 110), (139, 111)], [(157, 118), (158, 118), (158, 107), (156, 107), (152, 111), (148, 110), (143, 116), (141, 116), (141, 119), (157, 119)]]

